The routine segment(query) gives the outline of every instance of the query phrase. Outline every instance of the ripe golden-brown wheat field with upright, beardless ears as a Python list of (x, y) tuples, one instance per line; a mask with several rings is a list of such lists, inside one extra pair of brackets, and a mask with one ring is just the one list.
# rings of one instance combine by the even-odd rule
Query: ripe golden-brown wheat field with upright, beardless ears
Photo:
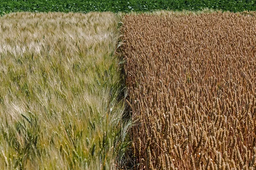
[(256, 168), (255, 16), (123, 17), (134, 166)]

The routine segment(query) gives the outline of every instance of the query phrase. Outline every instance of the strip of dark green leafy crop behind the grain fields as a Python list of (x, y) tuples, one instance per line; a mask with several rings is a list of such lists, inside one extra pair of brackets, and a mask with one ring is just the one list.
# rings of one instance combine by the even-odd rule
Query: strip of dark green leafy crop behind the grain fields
[(0, 0), (0, 15), (16, 11), (89, 12), (89, 11), (152, 11), (201, 10), (255, 11), (254, 0)]

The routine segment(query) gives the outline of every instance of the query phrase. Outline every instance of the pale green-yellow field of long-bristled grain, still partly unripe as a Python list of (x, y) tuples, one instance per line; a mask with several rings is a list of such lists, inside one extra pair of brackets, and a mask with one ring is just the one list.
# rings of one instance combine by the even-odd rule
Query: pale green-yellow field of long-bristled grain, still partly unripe
[(0, 17), (0, 169), (107, 170), (129, 122), (113, 13)]

